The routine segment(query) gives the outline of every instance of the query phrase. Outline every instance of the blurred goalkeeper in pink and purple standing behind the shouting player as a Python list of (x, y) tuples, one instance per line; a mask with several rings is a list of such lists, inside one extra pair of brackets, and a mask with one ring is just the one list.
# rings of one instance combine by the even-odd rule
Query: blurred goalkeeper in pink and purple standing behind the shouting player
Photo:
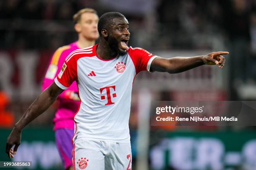
[[(95, 40), (99, 38), (97, 30), (99, 18), (95, 10), (91, 8), (79, 10), (74, 15), (73, 20), (74, 29), (78, 33), (78, 40), (60, 47), (54, 52), (44, 78), (42, 90), (45, 90), (54, 82), (54, 78), (60, 72), (64, 60), (72, 51), (95, 45)], [(74, 115), (80, 101), (77, 83), (73, 82), (67, 90), (64, 90), (59, 95), (58, 100), (59, 107), (54, 117), (55, 140), (64, 168), (72, 170)]]

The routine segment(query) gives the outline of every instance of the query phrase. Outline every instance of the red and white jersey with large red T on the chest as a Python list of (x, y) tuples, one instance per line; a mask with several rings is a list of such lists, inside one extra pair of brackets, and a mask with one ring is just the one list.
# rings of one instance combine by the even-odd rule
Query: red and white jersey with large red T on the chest
[(98, 45), (75, 50), (66, 58), (55, 78), (61, 89), (77, 81), (80, 107), (74, 116), (78, 138), (130, 143), (129, 117), (133, 80), (138, 72), (150, 70), (157, 56), (141, 48), (110, 60), (96, 54)]

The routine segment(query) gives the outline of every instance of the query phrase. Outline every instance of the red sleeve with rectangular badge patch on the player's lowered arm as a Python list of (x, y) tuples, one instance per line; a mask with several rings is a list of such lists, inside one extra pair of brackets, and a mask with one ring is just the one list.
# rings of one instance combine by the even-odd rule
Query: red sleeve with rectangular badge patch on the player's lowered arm
[(77, 80), (77, 63), (75, 60), (69, 60), (64, 62), (58, 76), (54, 79), (54, 82), (61, 89), (67, 89), (72, 82)]

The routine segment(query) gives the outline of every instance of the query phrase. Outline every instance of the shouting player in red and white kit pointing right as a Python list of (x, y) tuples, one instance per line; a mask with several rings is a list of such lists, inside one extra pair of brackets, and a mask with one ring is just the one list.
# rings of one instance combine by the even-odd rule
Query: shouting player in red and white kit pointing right
[(131, 170), (128, 121), (135, 76), (143, 70), (178, 73), (204, 64), (223, 67), (221, 55), (228, 54), (162, 58), (128, 47), (129, 23), (117, 12), (102, 15), (98, 31), (100, 44), (70, 53), (54, 82), (15, 124), (6, 144), (10, 158), (18, 149), (23, 128), (77, 81), (81, 103), (74, 116), (74, 170)]

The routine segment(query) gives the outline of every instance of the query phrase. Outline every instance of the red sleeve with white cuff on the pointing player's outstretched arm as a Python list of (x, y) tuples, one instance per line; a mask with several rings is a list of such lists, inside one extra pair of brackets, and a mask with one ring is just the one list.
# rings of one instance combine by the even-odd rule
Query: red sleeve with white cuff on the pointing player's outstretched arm
[(129, 49), (129, 55), (133, 60), (133, 64), (136, 69), (136, 74), (141, 71), (150, 71), (151, 62), (158, 56), (151, 54), (150, 52), (142, 48), (132, 48)]

